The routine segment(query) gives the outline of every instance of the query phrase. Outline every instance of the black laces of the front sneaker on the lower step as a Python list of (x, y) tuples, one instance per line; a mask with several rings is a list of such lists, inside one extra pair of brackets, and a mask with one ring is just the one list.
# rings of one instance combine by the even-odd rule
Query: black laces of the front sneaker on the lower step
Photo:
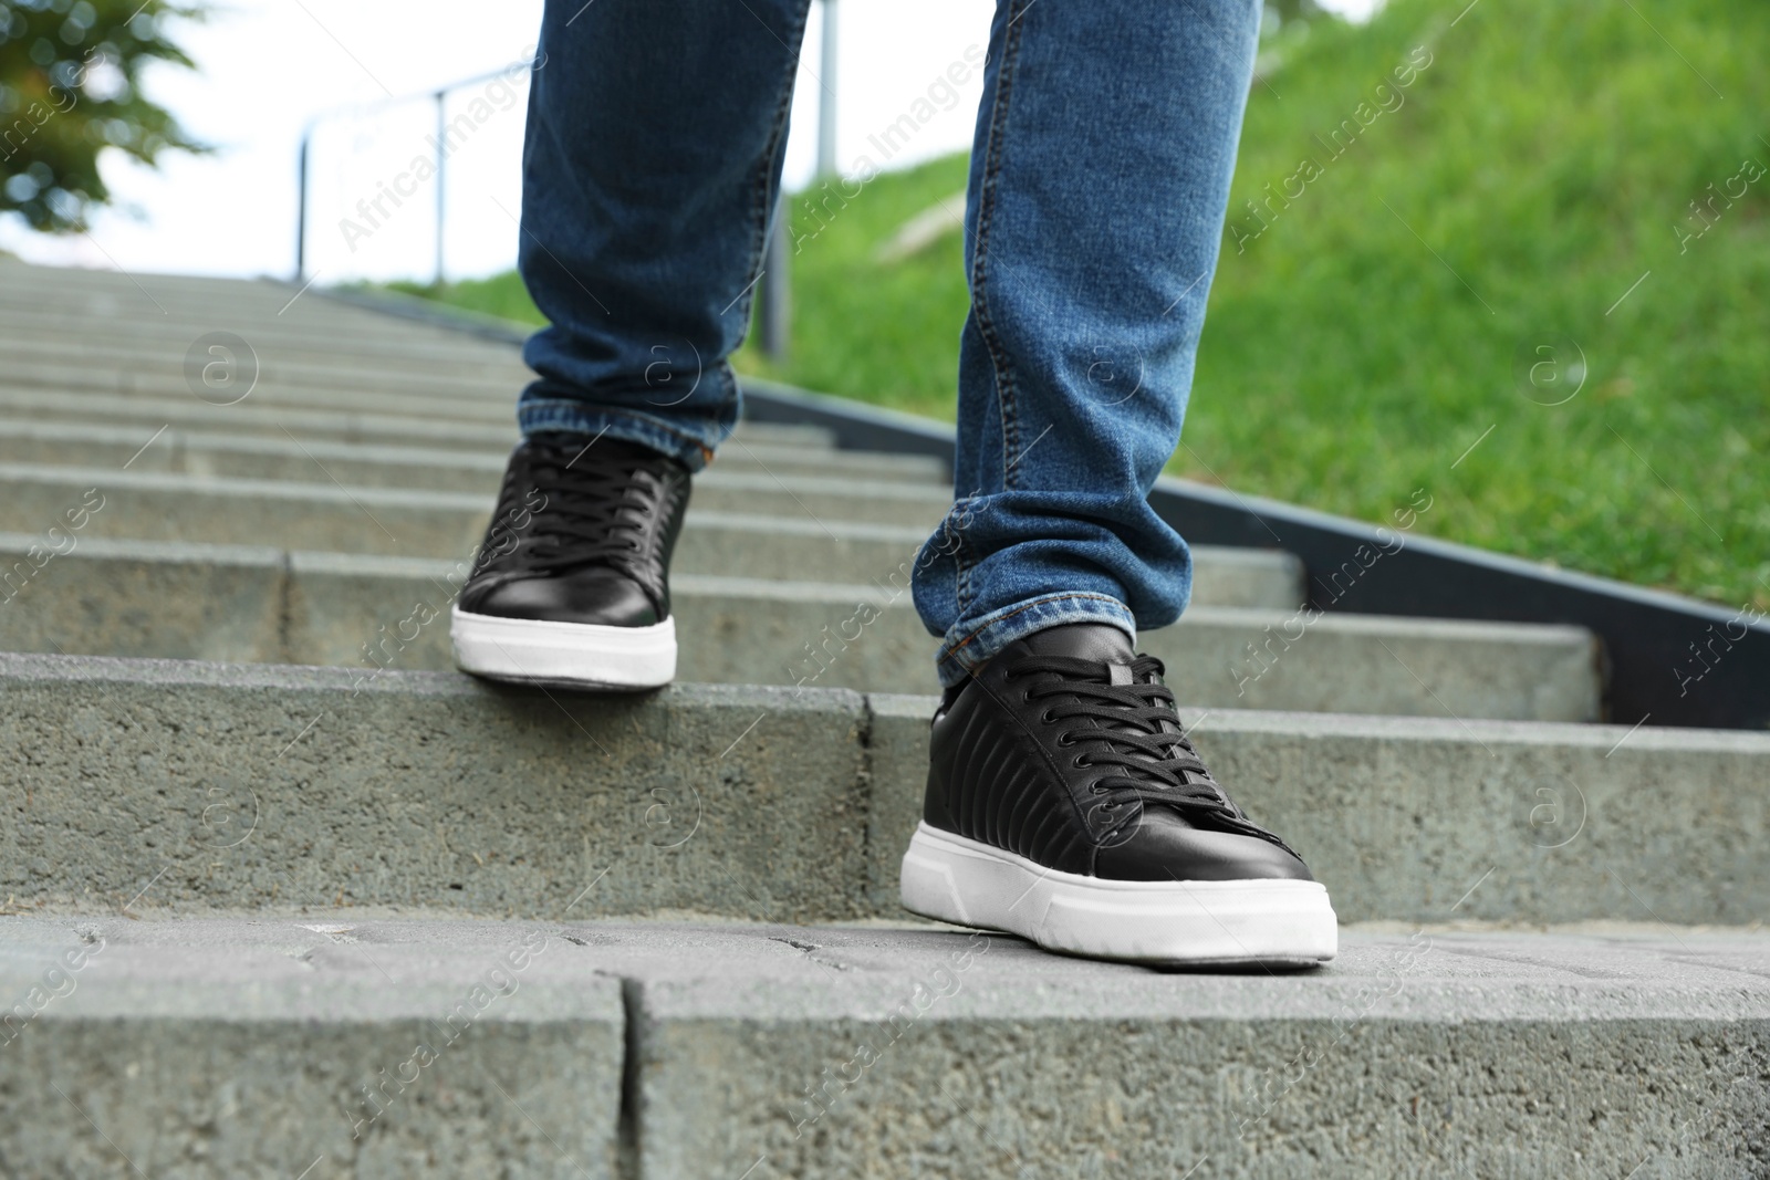
[(1248, 819), (1223, 793), (1193, 748), (1174, 692), (1161, 683), (1163, 663), (1156, 656), (1136, 656), (1129, 676), (1113, 683), (1112, 665), (1071, 656), (1025, 656), (1007, 667), (1011, 679), (1037, 676), (1028, 688), (1030, 701), (1051, 701), (1039, 716), (1046, 725), (1062, 725), (1057, 745), (1078, 748), (1078, 770), (1106, 771), (1090, 784), (1094, 794), (1112, 796), (1101, 808), (1127, 803), (1156, 803), (1189, 812), (1205, 812), (1218, 824), (1258, 835), (1280, 847), (1283, 842)]

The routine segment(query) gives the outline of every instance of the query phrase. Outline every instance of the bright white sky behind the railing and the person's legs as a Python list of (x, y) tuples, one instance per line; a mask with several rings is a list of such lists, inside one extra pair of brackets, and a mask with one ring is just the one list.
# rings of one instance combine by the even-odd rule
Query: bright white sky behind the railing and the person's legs
[[(1331, 0), (1366, 16), (1377, 0)], [(989, 39), (993, 0), (839, 0), (837, 161), (848, 170), (867, 138), (890, 126), (947, 65)], [(788, 186), (804, 186), (816, 154), (821, 37), (812, 11), (788, 143)], [(308, 274), (428, 278), (435, 267), (435, 188), (416, 186), (391, 218), (347, 242), (340, 219), (393, 184), (414, 156), (432, 156), (435, 108), (425, 99), (363, 111), (388, 96), (499, 71), (533, 53), (540, 0), (234, 0), (207, 23), (182, 25), (198, 71), (159, 69), (147, 92), (218, 152), (168, 154), (159, 172), (115, 152), (104, 179), (119, 207), (90, 235), (41, 237), (0, 216), (0, 249), (27, 260), (182, 274), (290, 274), (296, 264), (296, 161), (303, 126), (320, 120), (310, 163)], [(453, 94), (450, 119), (473, 106), (471, 140), (448, 159), (446, 269), (450, 278), (504, 271), (515, 262), (522, 111), (527, 85), (481, 83)], [(940, 111), (892, 166), (963, 150), (981, 83)], [(407, 182), (404, 188), (412, 188)], [(388, 207), (388, 205), (384, 205)], [(361, 223), (361, 221), (359, 221)], [(354, 249), (350, 249), (354, 246)]]

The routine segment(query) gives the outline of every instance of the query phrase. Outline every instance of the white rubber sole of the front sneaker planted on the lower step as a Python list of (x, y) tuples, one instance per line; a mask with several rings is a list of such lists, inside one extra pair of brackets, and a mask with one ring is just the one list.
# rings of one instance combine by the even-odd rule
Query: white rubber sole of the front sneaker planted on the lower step
[(919, 823), (906, 909), (1090, 959), (1172, 966), (1313, 966), (1340, 950), (1317, 881), (1103, 881)]

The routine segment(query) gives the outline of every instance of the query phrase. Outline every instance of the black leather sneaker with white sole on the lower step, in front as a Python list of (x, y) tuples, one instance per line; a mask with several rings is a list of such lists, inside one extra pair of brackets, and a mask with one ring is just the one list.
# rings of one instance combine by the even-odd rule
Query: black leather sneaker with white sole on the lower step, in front
[(1211, 778), (1161, 672), (1119, 628), (1078, 623), (949, 690), (904, 908), (1096, 959), (1333, 959), (1328, 890)]

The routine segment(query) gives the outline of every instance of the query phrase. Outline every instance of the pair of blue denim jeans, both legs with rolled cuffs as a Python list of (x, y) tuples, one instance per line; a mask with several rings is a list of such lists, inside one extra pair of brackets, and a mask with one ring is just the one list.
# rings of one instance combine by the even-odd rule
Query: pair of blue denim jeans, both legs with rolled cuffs
[[(524, 432), (607, 432), (696, 471), (731, 432), (726, 357), (807, 7), (549, 0), (520, 269), (552, 327), (527, 345)], [(1046, 626), (1135, 639), (1186, 607), (1186, 541), (1147, 495), (1181, 437), (1258, 19), (1257, 0), (998, 0), (965, 211), (956, 502), (913, 573), (943, 685)]]

